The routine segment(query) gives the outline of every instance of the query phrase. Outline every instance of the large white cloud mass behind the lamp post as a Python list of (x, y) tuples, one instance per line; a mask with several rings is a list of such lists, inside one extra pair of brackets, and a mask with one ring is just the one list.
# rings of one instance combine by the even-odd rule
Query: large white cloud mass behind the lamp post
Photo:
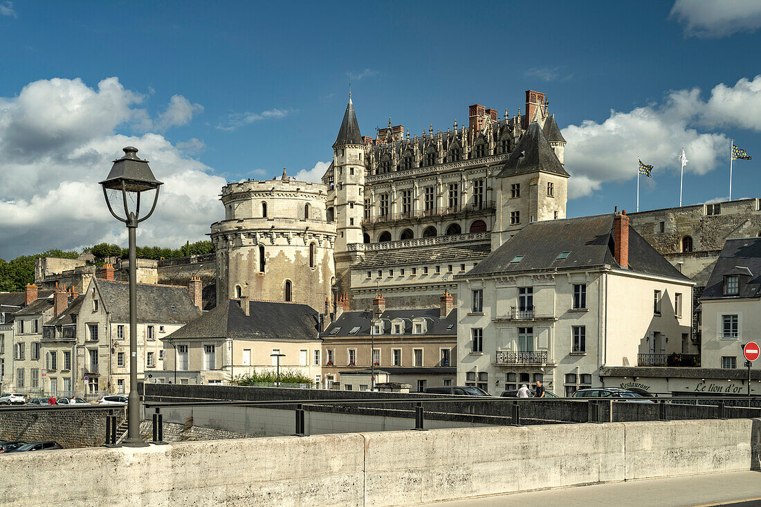
[(35, 81), (18, 97), (0, 98), (0, 257), (124, 244), (126, 228), (110, 216), (97, 182), (127, 145), (139, 148), (164, 181), (139, 243), (176, 246), (205, 237), (222, 213), (224, 179), (161, 135), (116, 133), (144, 113), (135, 108), (141, 100), (117, 78), (97, 89), (79, 79)]

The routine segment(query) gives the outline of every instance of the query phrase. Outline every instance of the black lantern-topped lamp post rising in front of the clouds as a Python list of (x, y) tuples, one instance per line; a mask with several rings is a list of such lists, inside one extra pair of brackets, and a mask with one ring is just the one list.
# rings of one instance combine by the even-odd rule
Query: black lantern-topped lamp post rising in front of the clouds
[[(108, 211), (116, 220), (124, 222), (129, 232), (129, 399), (127, 403), (127, 438), (124, 444), (127, 447), (141, 447), (148, 444), (140, 438), (140, 395), (138, 393), (138, 328), (137, 328), (137, 272), (135, 263), (135, 231), (138, 224), (150, 217), (156, 202), (158, 202), (158, 190), (163, 184), (156, 180), (148, 161), (141, 160), (137, 156), (138, 149), (127, 146), (124, 148), (124, 156), (113, 161), (111, 172), (108, 177), (100, 182), (103, 187), (103, 197), (106, 199)], [(110, 194), (119, 199), (119, 193), (124, 204), (124, 218), (113, 211), (109, 200)], [(154, 191), (153, 205), (144, 217), (140, 217), (140, 194)], [(129, 199), (128, 199), (129, 197)]]

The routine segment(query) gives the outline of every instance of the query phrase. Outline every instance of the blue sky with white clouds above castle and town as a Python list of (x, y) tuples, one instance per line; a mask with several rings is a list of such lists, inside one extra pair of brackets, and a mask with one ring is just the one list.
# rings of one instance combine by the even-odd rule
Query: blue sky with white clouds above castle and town
[[(0, 0), (0, 257), (124, 243), (97, 185), (134, 144), (167, 182), (139, 241), (209, 231), (221, 184), (319, 177), (348, 94), (360, 128), (412, 133), (548, 94), (568, 215), (756, 196), (761, 2), (7, 2)], [(723, 151), (722, 151), (723, 150)]]

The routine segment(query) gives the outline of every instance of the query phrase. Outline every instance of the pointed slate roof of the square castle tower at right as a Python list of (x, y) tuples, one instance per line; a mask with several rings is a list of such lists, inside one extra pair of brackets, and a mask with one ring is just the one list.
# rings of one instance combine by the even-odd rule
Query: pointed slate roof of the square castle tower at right
[(521, 136), (521, 140), (511, 152), (498, 177), (514, 176), (515, 174), (545, 171), (548, 173), (568, 176), (563, 164), (555, 155), (555, 150), (547, 142), (539, 123), (534, 122), (528, 126), (528, 130)]

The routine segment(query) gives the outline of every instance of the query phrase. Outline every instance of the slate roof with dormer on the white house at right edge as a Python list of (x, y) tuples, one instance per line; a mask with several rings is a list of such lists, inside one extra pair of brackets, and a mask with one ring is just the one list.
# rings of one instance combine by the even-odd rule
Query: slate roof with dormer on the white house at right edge
[[(738, 295), (724, 296), (726, 275), (740, 276)], [(700, 300), (725, 297), (761, 297), (761, 238), (730, 239), (724, 243)]]

